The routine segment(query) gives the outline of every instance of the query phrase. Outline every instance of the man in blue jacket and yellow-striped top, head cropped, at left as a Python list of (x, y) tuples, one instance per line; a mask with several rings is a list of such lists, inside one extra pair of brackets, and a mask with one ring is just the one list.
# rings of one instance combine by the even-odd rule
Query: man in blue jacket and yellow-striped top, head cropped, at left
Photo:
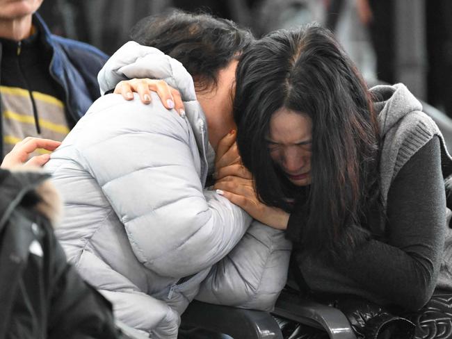
[[(32, 143), (39, 151), (53, 151), (100, 95), (97, 73), (107, 56), (51, 35), (35, 13), (41, 3), (0, 0), (0, 158), (26, 137), (46, 139)], [(27, 154), (30, 144), (21, 142), (15, 154)], [(48, 159), (42, 154), (32, 163)]]

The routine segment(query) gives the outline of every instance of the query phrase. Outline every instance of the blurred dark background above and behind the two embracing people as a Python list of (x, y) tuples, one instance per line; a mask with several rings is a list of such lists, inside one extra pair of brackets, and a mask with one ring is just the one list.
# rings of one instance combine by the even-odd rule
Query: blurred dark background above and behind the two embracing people
[(318, 22), (369, 84), (403, 82), (452, 117), (451, 0), (46, 0), (39, 12), (53, 33), (111, 54), (140, 18), (170, 8), (232, 19), (257, 37)]

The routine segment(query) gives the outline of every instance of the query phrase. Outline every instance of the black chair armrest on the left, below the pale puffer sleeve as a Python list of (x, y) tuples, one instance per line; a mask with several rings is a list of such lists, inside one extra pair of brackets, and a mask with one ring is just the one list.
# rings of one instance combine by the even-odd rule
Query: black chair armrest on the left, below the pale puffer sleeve
[(181, 316), (184, 325), (224, 333), (234, 339), (282, 339), (270, 313), (192, 301)]

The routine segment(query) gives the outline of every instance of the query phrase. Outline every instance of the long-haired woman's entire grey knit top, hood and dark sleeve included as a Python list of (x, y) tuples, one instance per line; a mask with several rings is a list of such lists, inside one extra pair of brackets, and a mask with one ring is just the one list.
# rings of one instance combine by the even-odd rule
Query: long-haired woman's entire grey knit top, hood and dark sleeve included
[(451, 211), (444, 192), (452, 158), (405, 85), (380, 85), (371, 92), (382, 137), (383, 236), (364, 241), (351, 258), (326, 262), (299, 253), (297, 261), (312, 290), (417, 309), (435, 288), (452, 290)]

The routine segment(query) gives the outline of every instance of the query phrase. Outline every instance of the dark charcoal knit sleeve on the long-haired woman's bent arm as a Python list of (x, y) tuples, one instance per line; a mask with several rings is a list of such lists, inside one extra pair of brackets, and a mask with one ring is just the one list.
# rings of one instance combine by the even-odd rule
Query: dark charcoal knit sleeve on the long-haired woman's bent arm
[(387, 243), (369, 240), (336, 267), (366, 289), (407, 309), (421, 308), (435, 289), (446, 231), (439, 139), (403, 166), (389, 189)]

